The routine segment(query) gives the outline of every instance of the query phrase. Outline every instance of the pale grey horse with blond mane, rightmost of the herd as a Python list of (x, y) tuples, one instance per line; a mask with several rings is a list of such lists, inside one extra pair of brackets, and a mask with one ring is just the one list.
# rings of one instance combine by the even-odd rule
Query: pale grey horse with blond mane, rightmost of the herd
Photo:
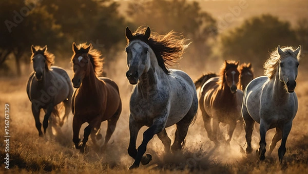
[(259, 160), (265, 159), (265, 134), (268, 129), (276, 128), (269, 145), (272, 153), (278, 141), (279, 161), (282, 162), (286, 148), (285, 143), (292, 128), (292, 121), (297, 113), (298, 101), (294, 92), (298, 71), (300, 46), (281, 49), (280, 46), (271, 53), (264, 64), (265, 76), (252, 80), (246, 87), (242, 105), (242, 116), (245, 121), (247, 148), (252, 152), (252, 132), (254, 123), (260, 123)]

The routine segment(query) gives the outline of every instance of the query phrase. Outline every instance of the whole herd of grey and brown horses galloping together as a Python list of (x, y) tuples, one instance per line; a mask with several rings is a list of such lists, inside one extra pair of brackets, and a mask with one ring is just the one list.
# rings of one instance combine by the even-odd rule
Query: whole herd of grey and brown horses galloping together
[[(219, 124), (228, 124), (228, 144), (232, 139), (238, 122), (245, 123), (247, 148), (251, 153), (251, 137), (254, 123), (260, 123), (259, 159), (265, 159), (265, 134), (268, 129), (276, 128), (269, 152), (282, 139), (278, 150), (280, 162), (285, 154), (285, 142), (292, 127), (298, 102), (294, 89), (298, 69), (300, 47), (280, 48), (271, 53), (265, 62), (265, 76), (254, 79), (251, 63), (225, 61), (220, 73), (208, 73), (195, 82), (181, 70), (168, 69), (166, 66), (177, 62), (182, 56), (184, 39), (175, 32), (159, 35), (150, 28), (138, 28), (132, 33), (126, 31), (127, 66), (126, 77), (134, 85), (129, 101), (128, 154), (134, 159), (129, 169), (137, 168), (140, 162), (145, 165), (151, 160), (145, 154), (148, 142), (157, 135), (162, 141), (166, 153), (175, 153), (182, 149), (190, 124), (197, 117), (198, 105), (202, 112), (208, 138), (216, 145), (221, 134)], [(73, 143), (84, 153), (89, 136), (95, 147), (100, 134), (101, 122), (107, 120), (107, 133), (102, 148), (114, 132), (122, 111), (118, 85), (107, 77), (99, 77), (102, 71), (101, 53), (90, 45), (72, 45), (73, 78), (70, 80), (65, 70), (51, 67), (53, 54), (47, 46), (31, 47), (34, 72), (27, 83), (27, 94), (32, 102), (32, 113), (38, 135), (43, 136), (40, 122), (40, 110), (43, 108), (44, 133), (49, 124), (59, 122), (57, 104), (63, 103), (65, 114), (60, 125), (70, 113), (73, 113)], [(71, 83), (72, 82), (72, 83)], [(73, 91), (73, 87), (76, 89)], [(200, 88), (198, 103), (197, 89)], [(50, 117), (52, 115), (52, 117)], [(81, 142), (80, 128), (84, 129)], [(176, 124), (175, 141), (166, 133), (166, 127)], [(143, 133), (142, 143), (136, 148), (137, 135), (142, 126), (148, 129)], [(49, 126), (51, 127), (51, 126)]]

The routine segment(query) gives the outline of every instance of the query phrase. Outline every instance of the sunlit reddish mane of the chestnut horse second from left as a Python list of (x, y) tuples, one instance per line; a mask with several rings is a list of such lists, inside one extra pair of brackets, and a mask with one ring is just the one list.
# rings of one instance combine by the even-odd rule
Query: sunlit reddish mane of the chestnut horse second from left
[[(88, 48), (89, 45), (87, 45), (87, 43), (82, 43), (79, 44), (77, 46), (78, 50), (78, 54), (83, 54), (83, 53), (87, 53), (86, 52), (86, 48)], [(72, 56), (72, 59), (75, 57), (75, 52)], [(104, 58), (102, 58), (102, 54), (100, 51), (98, 51), (97, 49), (94, 49), (92, 45), (90, 45), (90, 50), (88, 52), (89, 58), (90, 58), (90, 62), (92, 63), (93, 66), (93, 70), (95, 72), (95, 74), (100, 75), (103, 72), (103, 60)]]

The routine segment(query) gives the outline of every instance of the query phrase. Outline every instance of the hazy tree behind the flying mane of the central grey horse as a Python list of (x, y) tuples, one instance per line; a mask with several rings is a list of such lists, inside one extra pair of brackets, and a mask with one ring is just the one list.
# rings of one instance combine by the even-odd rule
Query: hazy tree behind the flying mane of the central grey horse
[(127, 16), (131, 23), (137, 26), (148, 25), (160, 34), (171, 30), (182, 33), (192, 41), (186, 51), (190, 56), (189, 62), (201, 61), (197, 67), (210, 55), (208, 39), (217, 36), (216, 20), (209, 13), (201, 11), (197, 2), (134, 1), (128, 5)]

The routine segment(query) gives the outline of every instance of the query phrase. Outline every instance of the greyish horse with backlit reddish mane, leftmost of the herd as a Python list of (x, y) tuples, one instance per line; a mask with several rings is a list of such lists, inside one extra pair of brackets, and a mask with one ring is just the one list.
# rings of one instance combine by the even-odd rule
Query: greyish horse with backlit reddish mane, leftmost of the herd
[[(54, 62), (54, 55), (47, 51), (47, 46), (41, 48), (39, 46), (31, 46), (34, 72), (31, 73), (27, 82), (27, 94), (32, 102), (32, 113), (35, 119), (35, 126), (38, 135), (43, 136), (40, 122), (40, 110), (44, 109), (45, 116), (43, 120), (44, 134), (48, 127), (48, 120), (51, 113), (59, 116), (57, 104), (63, 102), (65, 114), (60, 126), (63, 125), (65, 119), (70, 112), (71, 96), (73, 93), (72, 84), (66, 71), (59, 67), (51, 67)], [(52, 117), (51, 117), (52, 118)]]

